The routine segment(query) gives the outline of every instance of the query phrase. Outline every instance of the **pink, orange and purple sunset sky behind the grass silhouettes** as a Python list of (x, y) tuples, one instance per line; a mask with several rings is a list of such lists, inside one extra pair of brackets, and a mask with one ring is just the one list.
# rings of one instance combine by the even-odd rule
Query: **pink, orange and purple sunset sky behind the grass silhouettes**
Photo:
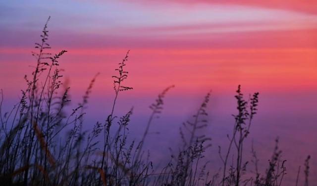
[(60, 64), (75, 102), (101, 73), (88, 121), (102, 120), (109, 111), (111, 75), (130, 50), (126, 83), (134, 90), (120, 95), (118, 114), (128, 110), (126, 105), (134, 106), (137, 129), (145, 126), (156, 95), (175, 85), (166, 98), (165, 115), (153, 128), (167, 135), (152, 137), (154, 142), (163, 146), (178, 138), (179, 124), (212, 89), (208, 132), (217, 149), (233, 122), (234, 91), (241, 84), (245, 95), (260, 92), (250, 137), (263, 147), (258, 150), (273, 149), (279, 136), (286, 158), (294, 162), (290, 169), (297, 171), (307, 154), (317, 167), (314, 1), (2, 0), (0, 88), (8, 105), (18, 100), (23, 76), (35, 64), (34, 43), (51, 16), (49, 43), (53, 52), (68, 51)]

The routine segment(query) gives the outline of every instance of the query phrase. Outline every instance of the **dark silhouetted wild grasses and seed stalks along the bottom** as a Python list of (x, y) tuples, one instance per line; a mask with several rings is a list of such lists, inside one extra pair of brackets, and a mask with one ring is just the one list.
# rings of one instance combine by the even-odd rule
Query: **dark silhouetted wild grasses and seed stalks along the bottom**
[[(49, 21), (49, 20), (48, 20)], [(142, 140), (128, 141), (127, 127), (131, 109), (125, 115), (115, 116), (118, 95), (131, 91), (125, 85), (128, 72), (125, 66), (129, 51), (115, 69), (114, 99), (111, 112), (104, 122), (97, 121), (90, 131), (83, 131), (83, 117), (97, 75), (91, 80), (82, 102), (71, 112), (69, 87), (62, 85), (59, 58), (67, 51), (52, 55), (48, 51), (48, 23), (41, 40), (35, 43), (36, 67), (31, 76), (25, 75), (27, 88), (17, 105), (2, 112), (0, 97), (0, 183), (2, 186), (281, 186), (286, 174), (285, 160), (281, 159), (278, 140), (267, 169), (247, 174), (248, 161), (243, 159), (244, 142), (250, 133), (257, 113), (259, 93), (246, 100), (241, 86), (236, 91), (237, 114), (227, 147), (219, 147), (222, 168), (219, 172), (207, 170), (205, 150), (210, 138), (201, 135), (208, 126), (208, 92), (193, 118), (180, 127), (179, 151), (160, 170), (154, 170), (151, 157), (145, 154), (144, 142), (154, 119), (163, 109), (164, 97), (174, 86), (164, 89), (150, 106)], [(67, 132), (65, 132), (67, 131)], [(64, 137), (66, 135), (66, 137)], [(100, 139), (103, 139), (100, 141)], [(252, 150), (256, 167), (257, 154)], [(233, 157), (233, 158), (232, 158)], [(305, 161), (305, 183), (308, 186), (309, 160)], [(299, 170), (300, 171), (300, 170)], [(294, 185), (301, 185), (297, 181)]]

